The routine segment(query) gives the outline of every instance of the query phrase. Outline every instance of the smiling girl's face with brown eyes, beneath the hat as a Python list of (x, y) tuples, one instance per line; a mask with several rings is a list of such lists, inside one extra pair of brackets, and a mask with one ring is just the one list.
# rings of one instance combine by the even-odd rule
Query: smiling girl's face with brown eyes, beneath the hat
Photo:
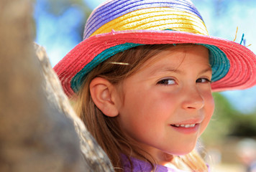
[(159, 163), (191, 152), (214, 112), (210, 80), (206, 47), (163, 50), (122, 82), (122, 130)]

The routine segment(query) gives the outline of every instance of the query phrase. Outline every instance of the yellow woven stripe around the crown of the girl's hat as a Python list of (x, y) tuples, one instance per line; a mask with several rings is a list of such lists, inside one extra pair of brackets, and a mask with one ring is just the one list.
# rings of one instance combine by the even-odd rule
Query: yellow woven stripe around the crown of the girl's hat
[(148, 8), (132, 11), (112, 20), (97, 29), (91, 37), (124, 30), (165, 30), (209, 35), (204, 22), (196, 15), (168, 7)]

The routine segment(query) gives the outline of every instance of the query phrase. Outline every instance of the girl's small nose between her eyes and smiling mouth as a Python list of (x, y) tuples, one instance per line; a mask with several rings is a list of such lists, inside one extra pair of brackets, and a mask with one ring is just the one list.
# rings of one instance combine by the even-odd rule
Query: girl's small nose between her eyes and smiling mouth
[(204, 107), (204, 98), (196, 88), (184, 91), (183, 108), (199, 110)]

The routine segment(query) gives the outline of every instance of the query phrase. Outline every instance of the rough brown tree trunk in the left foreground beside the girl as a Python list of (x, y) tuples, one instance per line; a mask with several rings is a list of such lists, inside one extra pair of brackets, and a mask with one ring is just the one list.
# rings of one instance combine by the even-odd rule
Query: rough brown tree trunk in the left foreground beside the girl
[(32, 1), (1, 0), (0, 171), (113, 171), (32, 35)]

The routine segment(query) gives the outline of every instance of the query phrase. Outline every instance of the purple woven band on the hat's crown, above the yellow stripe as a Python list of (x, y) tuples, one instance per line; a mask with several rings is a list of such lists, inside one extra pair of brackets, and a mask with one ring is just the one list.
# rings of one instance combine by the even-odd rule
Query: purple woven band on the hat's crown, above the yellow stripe
[[(113, 19), (118, 18), (131, 11), (138, 9), (146, 9), (152, 7), (172, 7), (174, 9), (180, 9), (188, 13), (194, 14), (202, 19), (201, 15), (197, 11), (193, 4), (183, 0), (113, 0), (103, 6), (99, 6), (91, 14), (86, 23), (83, 39), (86, 39), (93, 34), (101, 26), (110, 22)], [(202, 19), (203, 20), (203, 19)]]

